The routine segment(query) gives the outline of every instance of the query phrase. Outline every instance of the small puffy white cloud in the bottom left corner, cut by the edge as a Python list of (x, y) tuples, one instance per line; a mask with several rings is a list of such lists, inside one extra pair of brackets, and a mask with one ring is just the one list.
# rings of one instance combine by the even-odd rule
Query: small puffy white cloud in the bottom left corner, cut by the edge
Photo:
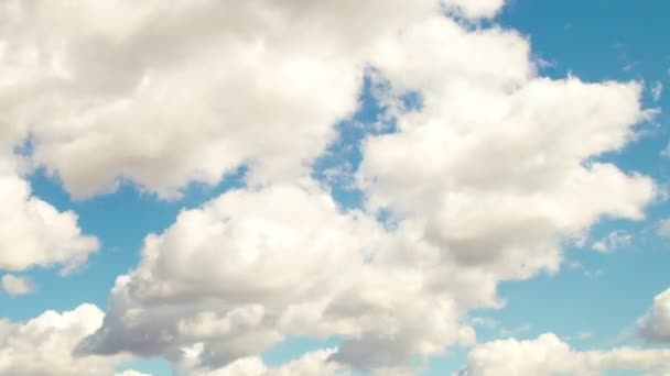
[(63, 313), (46, 311), (28, 322), (0, 320), (0, 375), (111, 375), (118, 356), (73, 357), (75, 345), (102, 323), (104, 313), (82, 305)]

